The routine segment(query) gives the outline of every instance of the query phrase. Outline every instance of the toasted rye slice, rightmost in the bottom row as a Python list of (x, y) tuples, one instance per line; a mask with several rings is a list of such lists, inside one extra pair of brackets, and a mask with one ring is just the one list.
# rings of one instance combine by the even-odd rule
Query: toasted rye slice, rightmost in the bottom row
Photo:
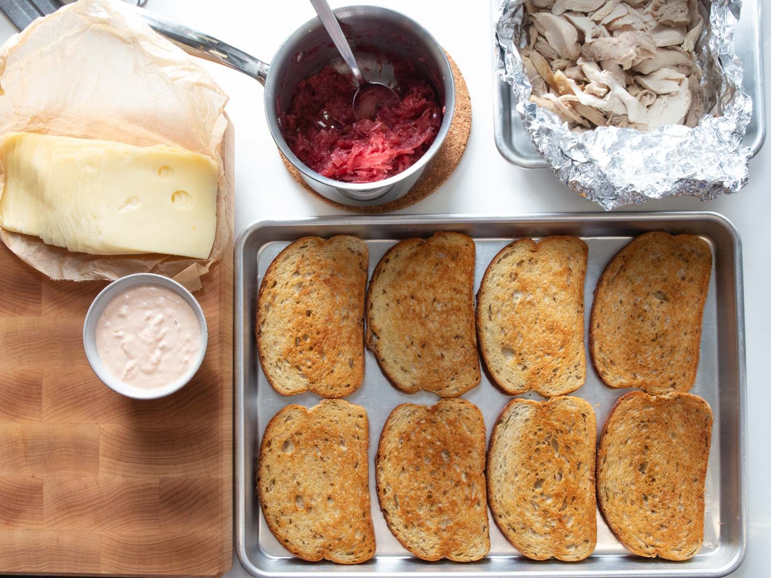
[(597, 454), (600, 511), (638, 556), (688, 560), (704, 539), (704, 482), (712, 410), (672, 392), (621, 395), (602, 428)]

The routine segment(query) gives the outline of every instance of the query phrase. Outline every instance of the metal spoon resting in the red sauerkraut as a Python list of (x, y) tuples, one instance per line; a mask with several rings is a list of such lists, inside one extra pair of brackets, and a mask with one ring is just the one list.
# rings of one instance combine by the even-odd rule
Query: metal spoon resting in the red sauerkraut
[(351, 47), (348, 46), (348, 40), (345, 39), (345, 35), (342, 33), (340, 22), (335, 18), (332, 8), (329, 8), (327, 0), (311, 0), (311, 5), (313, 5), (328, 35), (332, 38), (332, 42), (335, 42), (335, 46), (338, 52), (340, 52), (342, 59), (345, 60), (345, 64), (348, 65), (356, 81), (359, 82), (359, 89), (356, 90), (353, 96), (354, 118), (356, 120), (374, 119), (383, 106), (399, 106), (401, 99), (399, 99), (399, 95), (396, 92), (393, 92), (385, 84), (368, 82), (364, 78), (359, 65), (356, 64)]

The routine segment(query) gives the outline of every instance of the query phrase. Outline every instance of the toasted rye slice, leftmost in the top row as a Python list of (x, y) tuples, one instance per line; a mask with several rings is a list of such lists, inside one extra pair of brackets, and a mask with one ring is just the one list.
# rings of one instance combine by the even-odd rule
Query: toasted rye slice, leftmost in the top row
[(265, 271), (257, 349), (278, 393), (340, 398), (362, 385), (368, 263), (369, 250), (356, 237), (303, 237)]

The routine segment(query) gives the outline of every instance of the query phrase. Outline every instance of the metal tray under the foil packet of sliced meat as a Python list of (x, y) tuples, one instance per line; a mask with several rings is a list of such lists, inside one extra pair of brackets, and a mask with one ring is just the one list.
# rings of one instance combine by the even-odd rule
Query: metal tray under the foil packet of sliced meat
[[(497, 19), (500, 0), (490, 2), (493, 23)], [(760, 35), (761, 0), (743, 0), (742, 15), (736, 25), (734, 45), (736, 55), (744, 65), (742, 84), (752, 98), (752, 119), (742, 141), (755, 156), (766, 139), (766, 101), (763, 81), (763, 45)], [(494, 39), (493, 39), (494, 40)], [(493, 50), (497, 47), (493, 45)], [(526, 169), (547, 169), (549, 165), (535, 150), (530, 135), (517, 113), (511, 87), (493, 72), (493, 133), (495, 144), (503, 158)]]

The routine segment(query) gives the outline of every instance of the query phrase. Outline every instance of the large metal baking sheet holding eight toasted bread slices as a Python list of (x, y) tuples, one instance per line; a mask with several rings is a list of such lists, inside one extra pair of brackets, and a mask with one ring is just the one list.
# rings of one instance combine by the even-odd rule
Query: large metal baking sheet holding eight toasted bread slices
[[(597, 549), (587, 560), (534, 562), (521, 556), (490, 519), (490, 555), (474, 563), (418, 560), (399, 545), (385, 526), (375, 493), (374, 459), (385, 418), (403, 402), (433, 404), (437, 396), (422, 391), (401, 393), (383, 377), (370, 351), (365, 379), (348, 401), (369, 415), (369, 474), (372, 521), (377, 549), (367, 563), (342, 566), (308, 563), (289, 556), (268, 530), (256, 498), (258, 442), (268, 420), (284, 405), (315, 405), (314, 394), (282, 397), (266, 381), (258, 363), (254, 318), (264, 271), (278, 252), (305, 235), (351, 234), (369, 245), (369, 274), (396, 241), (429, 237), (437, 230), (460, 231), (476, 241), (475, 291), (493, 255), (518, 237), (572, 234), (589, 246), (585, 285), (585, 323), (598, 276), (608, 260), (631, 237), (648, 230), (698, 234), (712, 247), (713, 270), (704, 310), (701, 361), (694, 388), (712, 406), (714, 426), (705, 494), (704, 546), (685, 563), (631, 556), (618, 543), (598, 512)], [(235, 295), (236, 363), (236, 549), (254, 576), (723, 576), (736, 569), (746, 552), (746, 433), (742, 255), (731, 223), (715, 213), (575, 213), (523, 217), (315, 217), (254, 223), (237, 241)], [(616, 398), (628, 390), (606, 387), (588, 364), (586, 384), (572, 395), (594, 405), (598, 428)], [(510, 399), (483, 375), (480, 385), (464, 395), (480, 407), (490, 428)], [(535, 394), (521, 397), (539, 398)]]

